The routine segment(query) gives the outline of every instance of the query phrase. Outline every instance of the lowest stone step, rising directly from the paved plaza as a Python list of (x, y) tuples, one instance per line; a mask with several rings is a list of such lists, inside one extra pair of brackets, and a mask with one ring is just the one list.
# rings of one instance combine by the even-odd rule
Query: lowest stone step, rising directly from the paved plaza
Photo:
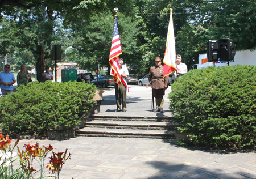
[(175, 139), (175, 131), (170, 130), (134, 130), (105, 129), (85, 127), (76, 131), (79, 136), (86, 137), (121, 137), (121, 138), (158, 138)]

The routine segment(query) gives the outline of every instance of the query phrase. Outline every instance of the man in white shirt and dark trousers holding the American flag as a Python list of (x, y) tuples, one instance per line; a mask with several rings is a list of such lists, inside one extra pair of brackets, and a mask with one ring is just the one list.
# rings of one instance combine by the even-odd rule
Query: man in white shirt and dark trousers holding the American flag
[[(129, 75), (128, 69), (125, 65), (123, 65), (122, 58), (120, 58), (119, 62), (120, 62), (121, 77), (123, 77), (123, 80), (126, 81)], [(122, 98), (123, 108), (121, 108), (121, 98)], [(121, 85), (118, 85), (117, 83), (115, 83), (115, 101), (117, 102), (117, 110), (115, 110), (115, 112), (120, 112), (121, 109), (123, 110), (123, 112), (126, 112), (126, 87), (125, 85), (123, 85), (123, 83)]]

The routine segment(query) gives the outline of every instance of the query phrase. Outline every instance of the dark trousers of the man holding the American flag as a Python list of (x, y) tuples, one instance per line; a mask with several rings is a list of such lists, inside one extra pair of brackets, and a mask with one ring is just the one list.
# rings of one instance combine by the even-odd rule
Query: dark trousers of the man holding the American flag
[[(123, 108), (121, 108), (121, 98)], [(115, 101), (117, 102), (117, 110), (126, 110), (126, 88), (123, 84), (119, 85), (115, 83)]]

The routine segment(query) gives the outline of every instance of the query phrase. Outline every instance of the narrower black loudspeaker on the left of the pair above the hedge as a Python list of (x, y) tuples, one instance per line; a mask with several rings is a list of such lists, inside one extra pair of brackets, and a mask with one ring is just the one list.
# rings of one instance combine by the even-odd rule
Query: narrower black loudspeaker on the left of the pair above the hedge
[(207, 59), (208, 62), (216, 62), (218, 60), (218, 42), (217, 40), (207, 41)]

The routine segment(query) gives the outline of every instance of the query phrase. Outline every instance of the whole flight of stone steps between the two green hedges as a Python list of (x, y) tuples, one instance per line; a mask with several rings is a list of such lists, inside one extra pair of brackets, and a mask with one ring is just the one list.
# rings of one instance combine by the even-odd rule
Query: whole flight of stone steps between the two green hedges
[(76, 135), (88, 137), (160, 138), (175, 139), (172, 117), (165, 116), (92, 116), (85, 122), (85, 128)]

